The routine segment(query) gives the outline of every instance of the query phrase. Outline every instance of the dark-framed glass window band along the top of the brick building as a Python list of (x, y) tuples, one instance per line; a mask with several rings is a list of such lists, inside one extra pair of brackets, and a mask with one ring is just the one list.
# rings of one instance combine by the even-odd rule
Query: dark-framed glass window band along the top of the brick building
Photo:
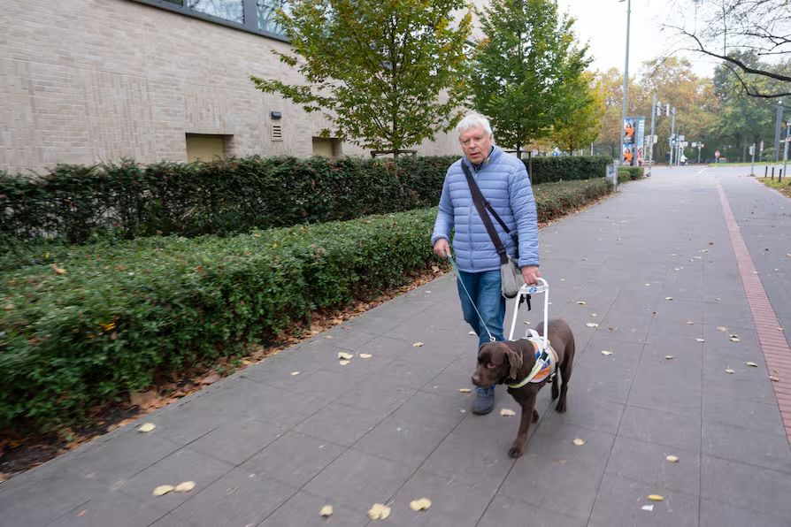
[(288, 0), (130, 0), (168, 11), (235, 27), (251, 33), (288, 40), (275, 19), (279, 9), (288, 11)]

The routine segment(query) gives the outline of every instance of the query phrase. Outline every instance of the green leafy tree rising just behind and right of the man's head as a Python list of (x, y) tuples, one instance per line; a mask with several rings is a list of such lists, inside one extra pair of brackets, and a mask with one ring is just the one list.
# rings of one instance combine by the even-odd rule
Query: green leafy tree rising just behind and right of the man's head
[(563, 109), (564, 85), (590, 59), (577, 47), (568, 15), (550, 0), (492, 0), (479, 12), (486, 35), (472, 74), (475, 108), (491, 118), (499, 144), (517, 150), (541, 138)]

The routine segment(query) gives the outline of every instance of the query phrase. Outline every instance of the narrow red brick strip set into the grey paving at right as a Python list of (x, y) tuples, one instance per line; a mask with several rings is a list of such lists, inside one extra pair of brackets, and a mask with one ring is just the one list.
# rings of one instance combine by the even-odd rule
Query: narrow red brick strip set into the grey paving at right
[(731, 245), (736, 254), (736, 263), (739, 265), (741, 283), (747, 293), (747, 302), (752, 311), (753, 320), (756, 323), (758, 342), (764, 352), (764, 360), (769, 370), (769, 375), (779, 378), (779, 381), (772, 382), (774, 395), (777, 398), (780, 415), (783, 417), (783, 424), (786, 427), (786, 435), (791, 441), (791, 348), (783, 332), (779, 331), (777, 315), (769, 303), (769, 298), (764, 291), (764, 285), (756, 274), (756, 266), (753, 259), (749, 256), (747, 245), (741, 238), (739, 225), (733, 217), (733, 210), (728, 203), (728, 198), (722, 185), (717, 183), (719, 201), (722, 202), (722, 210), (725, 214), (728, 233), (731, 235)]

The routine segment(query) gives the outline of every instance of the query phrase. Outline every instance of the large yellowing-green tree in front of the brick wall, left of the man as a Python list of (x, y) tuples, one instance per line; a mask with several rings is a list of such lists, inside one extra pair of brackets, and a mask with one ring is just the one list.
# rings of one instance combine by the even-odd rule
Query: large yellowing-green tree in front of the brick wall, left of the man
[[(252, 76), (305, 111), (323, 111), (334, 136), (400, 151), (449, 130), (467, 95), (463, 0), (295, 0), (278, 20), (292, 54), (273, 51), (307, 84)], [(442, 102), (440, 100), (442, 95)]]

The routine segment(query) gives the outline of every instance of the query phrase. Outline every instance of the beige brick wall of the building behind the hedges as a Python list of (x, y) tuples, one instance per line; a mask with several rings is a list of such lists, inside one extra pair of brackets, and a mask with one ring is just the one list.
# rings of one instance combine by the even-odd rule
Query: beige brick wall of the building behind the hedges
[[(284, 42), (129, 0), (0, 0), (0, 12), (0, 170), (186, 161), (188, 133), (233, 135), (237, 156), (310, 156), (326, 126), (252, 86), (250, 74), (300, 81), (272, 54)], [(283, 141), (271, 141), (270, 111)], [(442, 134), (419, 151), (458, 146)]]

